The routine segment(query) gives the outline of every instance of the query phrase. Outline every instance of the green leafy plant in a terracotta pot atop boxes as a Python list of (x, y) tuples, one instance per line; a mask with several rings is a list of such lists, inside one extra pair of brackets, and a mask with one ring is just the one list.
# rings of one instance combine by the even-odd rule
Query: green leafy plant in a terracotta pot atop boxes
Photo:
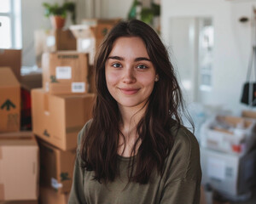
[(75, 3), (67, 2), (61, 6), (58, 3), (43, 3), (43, 6), (45, 8), (44, 15), (50, 18), (51, 24), (55, 29), (61, 29), (65, 26), (67, 12), (71, 13), (73, 24), (75, 24)]

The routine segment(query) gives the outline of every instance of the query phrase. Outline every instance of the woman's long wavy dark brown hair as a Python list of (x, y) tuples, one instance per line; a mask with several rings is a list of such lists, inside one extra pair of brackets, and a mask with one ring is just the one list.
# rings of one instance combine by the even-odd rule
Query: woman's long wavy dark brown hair
[(128, 173), (131, 182), (147, 184), (152, 169), (156, 168), (158, 173), (163, 173), (165, 159), (172, 150), (174, 140), (170, 128), (180, 127), (182, 124), (179, 110), (183, 109), (183, 99), (164, 44), (157, 33), (140, 20), (122, 21), (114, 26), (96, 54), (96, 103), (93, 120), (82, 139), (79, 153), (84, 161), (82, 167), (87, 171), (94, 171), (97, 181), (113, 181), (118, 175), (121, 117), (117, 102), (108, 92), (105, 62), (113, 48), (113, 42), (119, 37), (142, 38), (159, 75), (159, 82), (154, 83), (144, 116), (137, 124), (138, 139), (131, 155), (135, 154), (139, 140), (141, 144), (137, 150), (136, 167), (135, 160), (131, 159), (131, 171)]

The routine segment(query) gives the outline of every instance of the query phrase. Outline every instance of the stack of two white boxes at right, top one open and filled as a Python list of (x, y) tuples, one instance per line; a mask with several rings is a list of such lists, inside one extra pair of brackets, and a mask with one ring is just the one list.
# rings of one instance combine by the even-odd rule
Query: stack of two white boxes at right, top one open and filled
[(256, 184), (256, 121), (216, 116), (201, 127), (202, 184), (231, 200), (247, 199)]

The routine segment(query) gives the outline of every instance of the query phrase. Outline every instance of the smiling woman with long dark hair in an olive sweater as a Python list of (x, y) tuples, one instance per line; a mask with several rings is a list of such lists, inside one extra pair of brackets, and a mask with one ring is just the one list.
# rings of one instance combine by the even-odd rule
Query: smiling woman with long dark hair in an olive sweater
[(93, 119), (79, 133), (70, 204), (199, 203), (195, 136), (165, 46), (139, 20), (120, 22), (95, 59)]

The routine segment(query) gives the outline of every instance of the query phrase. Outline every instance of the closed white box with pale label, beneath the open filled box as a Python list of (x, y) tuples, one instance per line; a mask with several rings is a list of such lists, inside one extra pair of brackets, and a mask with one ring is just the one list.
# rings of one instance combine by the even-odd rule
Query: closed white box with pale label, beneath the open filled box
[(256, 150), (244, 156), (201, 148), (202, 184), (236, 198), (256, 184)]

